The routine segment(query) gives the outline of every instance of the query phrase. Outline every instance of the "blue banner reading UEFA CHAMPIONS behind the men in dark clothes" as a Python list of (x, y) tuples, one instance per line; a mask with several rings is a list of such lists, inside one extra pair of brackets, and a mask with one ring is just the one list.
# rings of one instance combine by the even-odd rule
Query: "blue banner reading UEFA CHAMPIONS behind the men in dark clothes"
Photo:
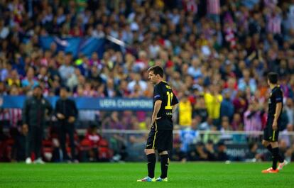
[[(0, 107), (4, 109), (23, 107), (26, 96), (0, 96)], [(58, 100), (57, 96), (46, 97), (50, 103), (55, 106)], [(92, 98), (92, 97), (77, 97), (72, 98), (77, 104), (77, 109), (94, 109), (104, 111), (152, 111), (153, 100), (140, 98)]]

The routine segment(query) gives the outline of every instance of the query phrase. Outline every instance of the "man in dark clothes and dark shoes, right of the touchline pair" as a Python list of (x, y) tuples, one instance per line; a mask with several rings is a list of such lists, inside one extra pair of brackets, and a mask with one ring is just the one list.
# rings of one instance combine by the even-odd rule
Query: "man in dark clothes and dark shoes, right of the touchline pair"
[(66, 150), (66, 135), (70, 138), (71, 160), (75, 160), (75, 120), (77, 119), (77, 107), (75, 101), (67, 98), (67, 88), (60, 89), (60, 99), (56, 101), (55, 115), (60, 126), (60, 145), (63, 153), (63, 160), (70, 160)]

